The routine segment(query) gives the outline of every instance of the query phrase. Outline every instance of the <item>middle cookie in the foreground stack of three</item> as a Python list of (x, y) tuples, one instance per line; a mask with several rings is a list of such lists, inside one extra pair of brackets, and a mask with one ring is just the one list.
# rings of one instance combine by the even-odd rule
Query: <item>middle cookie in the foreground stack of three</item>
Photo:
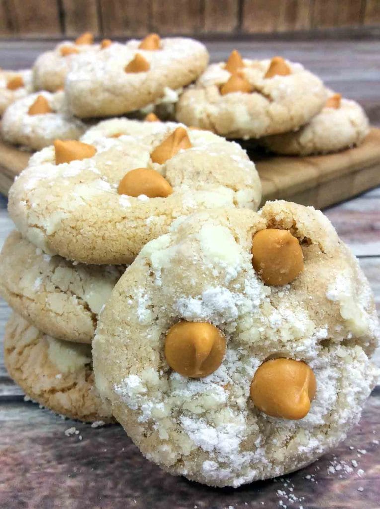
[(45, 334), (91, 343), (98, 313), (123, 272), (51, 258), (14, 231), (0, 254), (0, 294)]

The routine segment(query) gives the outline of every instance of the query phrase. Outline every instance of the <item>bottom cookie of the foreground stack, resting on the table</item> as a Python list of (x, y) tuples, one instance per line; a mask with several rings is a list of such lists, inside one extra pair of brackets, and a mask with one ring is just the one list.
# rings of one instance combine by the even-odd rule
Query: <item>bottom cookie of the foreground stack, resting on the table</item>
[(25, 393), (53, 412), (84, 421), (113, 420), (94, 386), (90, 345), (56, 340), (14, 314), (6, 326), (4, 360)]

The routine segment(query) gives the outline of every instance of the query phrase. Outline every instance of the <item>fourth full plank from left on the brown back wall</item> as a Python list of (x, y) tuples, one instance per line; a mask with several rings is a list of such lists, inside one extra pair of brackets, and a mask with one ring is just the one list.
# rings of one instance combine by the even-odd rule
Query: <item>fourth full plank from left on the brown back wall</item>
[(162, 34), (197, 34), (202, 25), (200, 0), (151, 2), (151, 29)]

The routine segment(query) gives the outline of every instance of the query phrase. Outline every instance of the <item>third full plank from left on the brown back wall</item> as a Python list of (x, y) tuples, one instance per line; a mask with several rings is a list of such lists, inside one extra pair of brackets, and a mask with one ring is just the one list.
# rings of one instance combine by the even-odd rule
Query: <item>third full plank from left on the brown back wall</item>
[(99, 5), (104, 36), (125, 38), (150, 31), (148, 0), (99, 0)]

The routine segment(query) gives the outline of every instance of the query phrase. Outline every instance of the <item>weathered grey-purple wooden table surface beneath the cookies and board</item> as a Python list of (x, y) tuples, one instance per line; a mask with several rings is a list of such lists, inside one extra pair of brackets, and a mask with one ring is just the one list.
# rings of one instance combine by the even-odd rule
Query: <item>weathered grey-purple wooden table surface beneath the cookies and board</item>
[[(53, 43), (2, 42), (0, 67), (30, 66)], [(319, 74), (327, 86), (358, 100), (380, 126), (380, 42), (207, 43), (213, 61), (232, 47), (244, 56), (282, 54)], [(13, 225), (0, 196), (0, 247)], [(325, 210), (359, 258), (380, 312), (380, 188)], [(10, 315), (0, 300), (0, 335)], [(380, 366), (380, 353), (374, 360)], [(79, 434), (65, 435), (75, 428)], [(31, 402), (7, 375), (0, 358), (0, 507), (67, 509), (296, 509), (380, 507), (380, 385), (358, 427), (310, 467), (238, 490), (212, 489), (165, 474), (144, 460), (119, 426), (93, 429)]]

